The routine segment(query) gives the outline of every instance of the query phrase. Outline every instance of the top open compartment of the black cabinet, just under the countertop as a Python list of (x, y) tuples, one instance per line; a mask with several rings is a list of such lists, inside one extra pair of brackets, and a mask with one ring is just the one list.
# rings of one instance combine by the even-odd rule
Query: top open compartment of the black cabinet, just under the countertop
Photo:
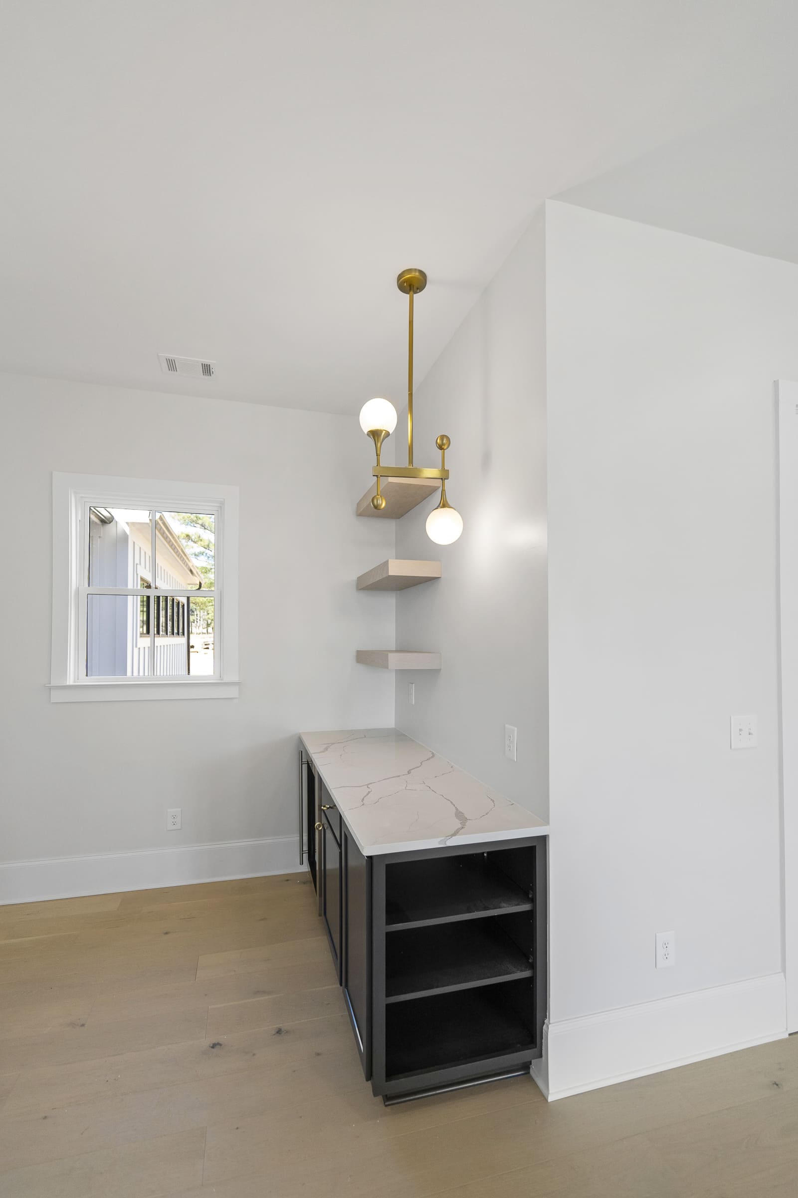
[(385, 879), (385, 931), (531, 910), (532, 900), (482, 855), (403, 861)]

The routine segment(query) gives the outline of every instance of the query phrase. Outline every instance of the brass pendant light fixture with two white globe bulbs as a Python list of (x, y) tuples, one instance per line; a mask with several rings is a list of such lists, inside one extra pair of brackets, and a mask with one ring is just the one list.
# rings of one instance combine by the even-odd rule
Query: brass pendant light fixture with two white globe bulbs
[(372, 474), (377, 479), (377, 494), (371, 497), (371, 506), (376, 512), (382, 512), (385, 507), (385, 496), (382, 494), (383, 478), (439, 478), (440, 479), (440, 503), (427, 516), (427, 537), (437, 545), (451, 545), (457, 540), (463, 531), (463, 518), (446, 500), (446, 449), (451, 444), (449, 437), (441, 432), (435, 446), (440, 449), (440, 470), (427, 466), (413, 465), (413, 296), (419, 295), (427, 285), (427, 276), (424, 271), (410, 268), (402, 271), (396, 286), (403, 295), (409, 297), (408, 315), (408, 364), (407, 364), (407, 466), (383, 466), (380, 454), (383, 443), (396, 428), (396, 409), (388, 399), (370, 399), (360, 409), (360, 428), (374, 442), (377, 450), (377, 465)]

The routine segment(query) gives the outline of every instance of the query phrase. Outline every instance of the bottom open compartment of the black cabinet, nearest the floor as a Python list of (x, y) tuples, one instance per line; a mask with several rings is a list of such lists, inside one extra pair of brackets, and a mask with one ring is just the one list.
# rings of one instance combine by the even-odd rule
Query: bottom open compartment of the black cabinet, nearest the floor
[(532, 1055), (535, 1033), (522, 1014), (528, 981), (396, 1003), (385, 1009), (389, 1081), (497, 1058)]

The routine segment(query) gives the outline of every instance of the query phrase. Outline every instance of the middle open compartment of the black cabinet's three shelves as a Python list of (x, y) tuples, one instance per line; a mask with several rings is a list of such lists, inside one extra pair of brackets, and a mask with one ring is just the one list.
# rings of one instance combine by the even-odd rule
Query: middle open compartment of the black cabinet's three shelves
[(531, 978), (532, 967), (495, 920), (397, 932), (385, 954), (385, 1002)]

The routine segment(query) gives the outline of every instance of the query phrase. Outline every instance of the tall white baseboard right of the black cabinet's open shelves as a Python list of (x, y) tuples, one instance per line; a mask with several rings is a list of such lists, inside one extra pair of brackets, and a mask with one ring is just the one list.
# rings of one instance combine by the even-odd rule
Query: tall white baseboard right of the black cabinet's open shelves
[(553, 1102), (787, 1035), (784, 974), (547, 1023), (532, 1077)]

